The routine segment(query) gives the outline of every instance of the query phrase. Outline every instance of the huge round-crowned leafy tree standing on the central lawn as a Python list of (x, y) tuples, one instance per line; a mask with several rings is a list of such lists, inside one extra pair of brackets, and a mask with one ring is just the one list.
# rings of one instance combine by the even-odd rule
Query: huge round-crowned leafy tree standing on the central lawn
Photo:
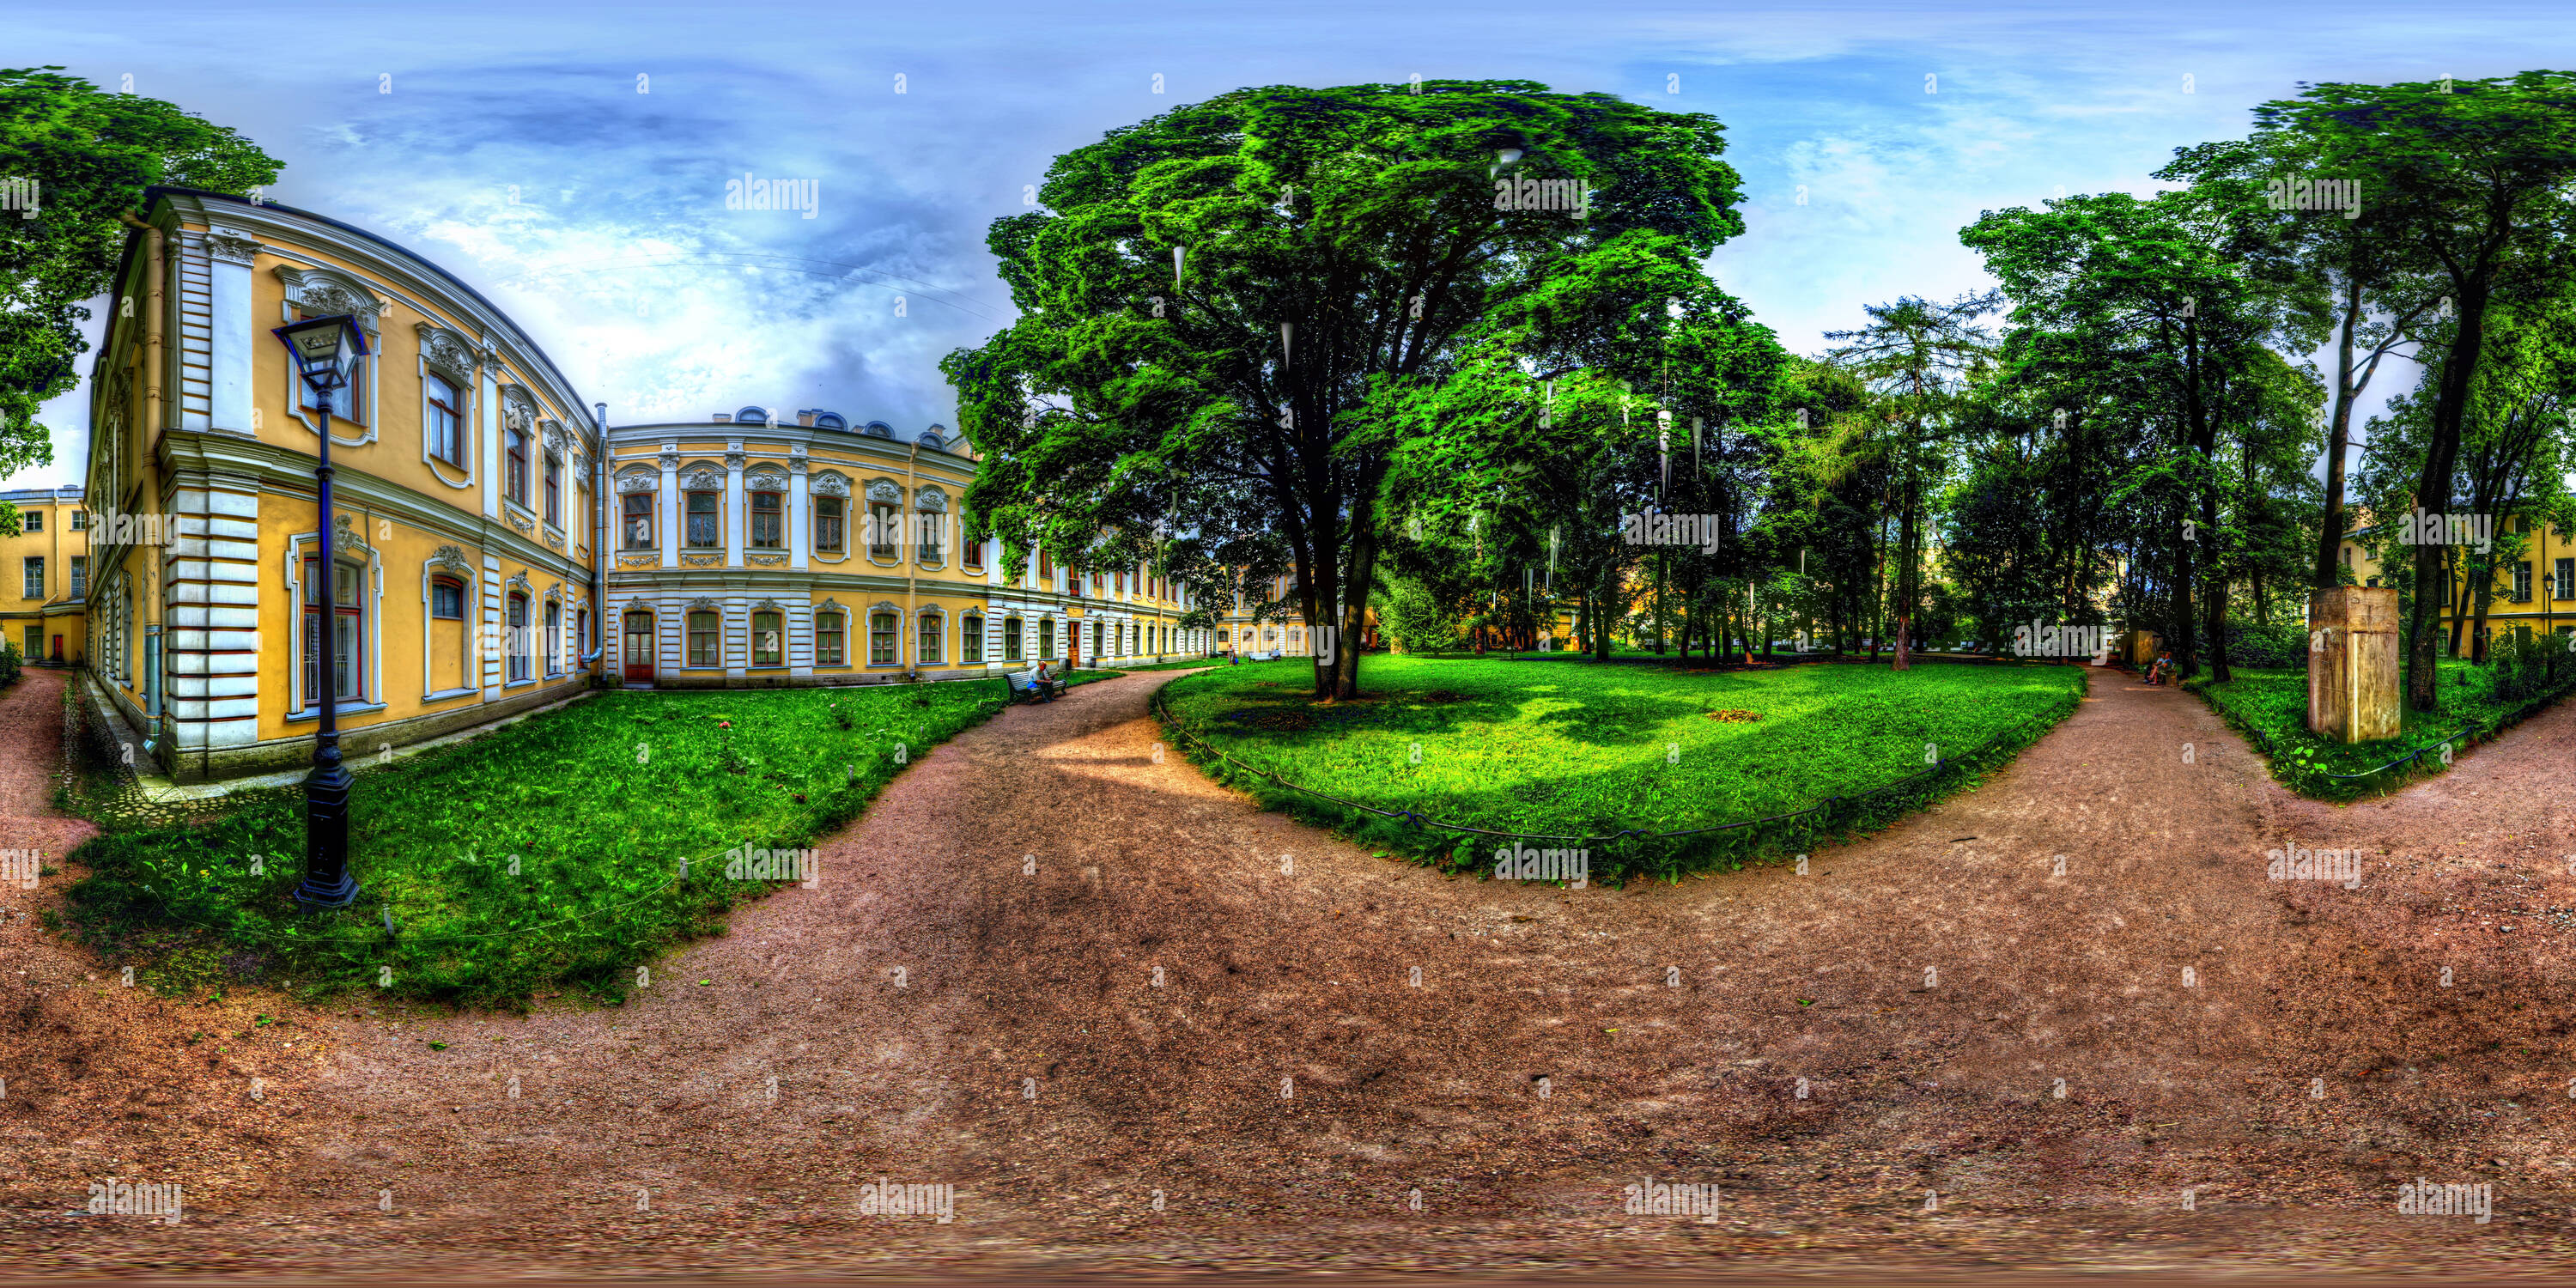
[[(1757, 345), (1698, 268), (1744, 227), (1721, 152), (1708, 116), (1520, 80), (1236, 90), (1066, 152), (989, 234), (1020, 319), (943, 361), (969, 510), (1203, 600), (1288, 572), (1355, 641), (1409, 438), (1533, 420), (1556, 376), (1643, 386), (1698, 361), (1677, 332)], [(1358, 649), (1316, 693), (1358, 693)]]

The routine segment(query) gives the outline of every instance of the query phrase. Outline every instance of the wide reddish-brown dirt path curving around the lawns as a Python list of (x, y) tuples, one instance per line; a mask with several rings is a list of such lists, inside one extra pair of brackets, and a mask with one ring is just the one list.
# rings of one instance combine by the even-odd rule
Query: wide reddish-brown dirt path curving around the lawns
[[(422, 1273), (2555, 1257), (2576, 917), (2481, 922), (2576, 907), (2576, 708), (2331, 809), (2092, 675), (1806, 876), (1625, 891), (1373, 858), (1157, 762), (1170, 675), (1087, 685), (922, 757), (819, 889), (629, 1007), (330, 1020), (268, 1170), (178, 1229), (13, 1236)], [(2367, 850), (2362, 886), (2267, 881), (2285, 837)], [(2491, 1182), (2494, 1224), (2396, 1216), (2416, 1175)], [(876, 1177), (956, 1185), (956, 1224), (858, 1218)], [(1638, 1177), (1723, 1213), (1625, 1216)]]

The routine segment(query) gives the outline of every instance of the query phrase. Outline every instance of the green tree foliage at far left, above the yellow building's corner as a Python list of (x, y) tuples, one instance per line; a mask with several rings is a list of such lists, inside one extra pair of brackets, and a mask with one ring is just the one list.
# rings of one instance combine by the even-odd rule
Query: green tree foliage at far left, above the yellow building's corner
[(36, 407), (77, 384), (88, 301), (113, 286), (144, 188), (247, 193), (278, 162), (157, 98), (103, 93), (62, 67), (0, 70), (0, 175), (36, 183), (33, 219), (0, 211), (0, 474), (54, 459)]

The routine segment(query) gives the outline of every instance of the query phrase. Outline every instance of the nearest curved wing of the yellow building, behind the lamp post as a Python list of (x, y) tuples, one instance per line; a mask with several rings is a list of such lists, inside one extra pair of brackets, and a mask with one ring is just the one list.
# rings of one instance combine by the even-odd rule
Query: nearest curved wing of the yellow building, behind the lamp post
[[(546, 353), (371, 232), (185, 188), (144, 201), (90, 374), (85, 621), (90, 672), (162, 768), (304, 765), (325, 629), (353, 760), (582, 690), (598, 425)], [(322, 425), (270, 327), (327, 314), (374, 355)]]

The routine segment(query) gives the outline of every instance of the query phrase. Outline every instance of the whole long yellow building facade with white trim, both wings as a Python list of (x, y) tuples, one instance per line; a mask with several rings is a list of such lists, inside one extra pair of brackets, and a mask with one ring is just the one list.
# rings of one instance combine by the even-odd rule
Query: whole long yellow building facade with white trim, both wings
[[(994, 541), (961, 541), (974, 448), (940, 425), (739, 407), (608, 428), (500, 309), (366, 229), (188, 188), (149, 191), (131, 224), (85, 489), (64, 489), (85, 523), (59, 518), (77, 500), (23, 495), (44, 531), (0, 554), (44, 559), (44, 595), (10, 616), (46, 654), (62, 634), (178, 781), (307, 765), (325, 634), (353, 760), (592, 685), (1218, 652), (1146, 569), (1002, 567)], [(371, 355), (325, 425), (270, 330), (330, 314)]]

